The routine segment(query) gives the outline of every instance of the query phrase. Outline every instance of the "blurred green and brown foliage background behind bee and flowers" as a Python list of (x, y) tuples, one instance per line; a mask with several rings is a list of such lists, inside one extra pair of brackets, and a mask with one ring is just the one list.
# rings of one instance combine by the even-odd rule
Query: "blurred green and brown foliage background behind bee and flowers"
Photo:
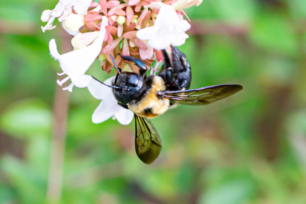
[[(0, 203), (306, 202), (305, 0), (187, 9), (191, 88), (244, 89), (154, 119), (163, 148), (151, 165), (136, 156), (134, 121), (93, 124), (100, 101), (56, 84), (48, 42), (62, 54), (71, 37), (57, 20), (43, 33), (40, 15), (57, 2), (0, 1)], [(99, 61), (90, 70), (109, 77)]]

